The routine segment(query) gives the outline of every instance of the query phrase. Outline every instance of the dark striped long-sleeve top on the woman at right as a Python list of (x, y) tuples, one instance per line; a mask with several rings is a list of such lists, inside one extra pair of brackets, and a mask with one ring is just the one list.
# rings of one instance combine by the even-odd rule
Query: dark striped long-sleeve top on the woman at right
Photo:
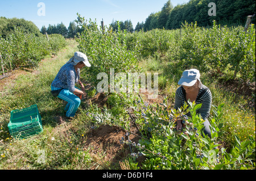
[[(184, 106), (186, 100), (186, 92), (182, 86), (180, 86), (176, 90), (175, 94), (175, 106), (174, 109), (177, 110)], [(196, 98), (196, 104), (202, 104), (201, 108), (197, 110), (197, 113), (200, 113), (202, 118), (206, 120), (210, 115), (210, 107), (212, 106), (212, 93), (209, 88), (206, 86), (202, 86), (199, 90), (199, 94)]]

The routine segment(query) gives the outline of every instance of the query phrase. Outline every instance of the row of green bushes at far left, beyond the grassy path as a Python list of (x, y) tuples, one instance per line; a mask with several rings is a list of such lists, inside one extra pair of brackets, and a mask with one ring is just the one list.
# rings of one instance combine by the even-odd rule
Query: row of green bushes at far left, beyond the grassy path
[[(36, 36), (20, 28), (5, 39), (0, 38), (1, 66), (4, 71), (10, 71), (20, 66), (35, 67), (47, 55), (56, 54), (67, 45), (61, 35)], [(0, 70), (2, 72), (2, 69)]]

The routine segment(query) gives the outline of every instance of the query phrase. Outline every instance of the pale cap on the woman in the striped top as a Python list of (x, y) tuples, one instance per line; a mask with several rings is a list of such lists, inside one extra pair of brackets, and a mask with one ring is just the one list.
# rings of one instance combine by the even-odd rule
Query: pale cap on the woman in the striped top
[[(197, 80), (200, 81), (200, 72), (197, 69), (190, 69), (183, 71), (182, 77), (180, 78), (178, 85), (191, 87), (195, 85)], [(200, 86), (201, 87), (201, 81)]]

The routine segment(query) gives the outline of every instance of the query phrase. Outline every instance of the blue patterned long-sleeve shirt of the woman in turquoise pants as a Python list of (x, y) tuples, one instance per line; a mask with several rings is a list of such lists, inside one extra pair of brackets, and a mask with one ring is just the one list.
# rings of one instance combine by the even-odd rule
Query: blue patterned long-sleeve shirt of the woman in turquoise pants
[(77, 69), (76, 74), (75, 66), (72, 64), (65, 64), (60, 68), (59, 73), (57, 73), (51, 86), (68, 89), (69, 91), (74, 92), (76, 90), (75, 83), (78, 82), (79, 78), (80, 69)]

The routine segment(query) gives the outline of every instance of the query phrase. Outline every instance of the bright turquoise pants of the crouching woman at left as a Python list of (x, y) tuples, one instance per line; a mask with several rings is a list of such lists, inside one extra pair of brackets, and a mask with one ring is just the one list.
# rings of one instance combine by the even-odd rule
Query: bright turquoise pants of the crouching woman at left
[[(51, 90), (59, 90), (59, 89), (60, 88), (51, 86)], [(76, 87), (76, 89), (78, 88)], [(67, 111), (66, 116), (74, 117), (81, 103), (80, 98), (75, 94), (73, 94), (68, 89), (63, 89), (57, 97), (68, 102), (67, 106), (64, 109), (64, 111)]]

